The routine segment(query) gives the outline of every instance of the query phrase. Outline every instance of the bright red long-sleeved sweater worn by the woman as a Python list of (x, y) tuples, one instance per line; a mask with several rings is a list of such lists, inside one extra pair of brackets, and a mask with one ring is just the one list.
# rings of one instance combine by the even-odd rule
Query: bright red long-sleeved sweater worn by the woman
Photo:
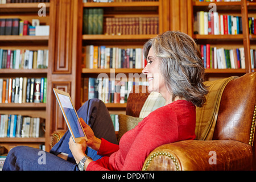
[(152, 111), (133, 130), (127, 131), (119, 146), (102, 139), (98, 155), (86, 170), (136, 170), (152, 150), (162, 144), (195, 139), (196, 107), (178, 100)]

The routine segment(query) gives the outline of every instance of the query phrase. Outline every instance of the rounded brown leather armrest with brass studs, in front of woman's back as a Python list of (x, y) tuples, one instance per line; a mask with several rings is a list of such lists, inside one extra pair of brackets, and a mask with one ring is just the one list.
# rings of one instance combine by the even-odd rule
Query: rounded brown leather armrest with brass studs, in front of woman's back
[(251, 170), (252, 147), (235, 140), (185, 140), (148, 155), (143, 170)]

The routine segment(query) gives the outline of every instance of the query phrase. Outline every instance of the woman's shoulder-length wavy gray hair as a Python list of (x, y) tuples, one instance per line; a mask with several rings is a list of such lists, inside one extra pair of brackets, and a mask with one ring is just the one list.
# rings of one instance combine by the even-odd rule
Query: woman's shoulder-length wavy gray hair
[(144, 44), (146, 59), (151, 47), (159, 57), (159, 69), (173, 100), (183, 97), (201, 107), (208, 90), (203, 83), (204, 64), (195, 41), (182, 32), (167, 31)]

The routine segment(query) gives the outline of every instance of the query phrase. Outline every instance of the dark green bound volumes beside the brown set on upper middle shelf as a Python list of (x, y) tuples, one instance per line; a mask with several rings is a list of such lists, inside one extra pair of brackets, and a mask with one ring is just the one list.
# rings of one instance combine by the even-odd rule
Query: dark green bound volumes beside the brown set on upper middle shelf
[(84, 9), (83, 34), (103, 34), (103, 9)]

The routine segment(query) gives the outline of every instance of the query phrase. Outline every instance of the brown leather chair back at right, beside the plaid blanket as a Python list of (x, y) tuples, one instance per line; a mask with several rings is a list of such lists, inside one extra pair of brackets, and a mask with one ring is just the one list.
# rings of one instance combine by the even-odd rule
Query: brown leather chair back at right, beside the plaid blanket
[(222, 93), (213, 140), (237, 140), (253, 146), (255, 155), (256, 73), (229, 82)]

